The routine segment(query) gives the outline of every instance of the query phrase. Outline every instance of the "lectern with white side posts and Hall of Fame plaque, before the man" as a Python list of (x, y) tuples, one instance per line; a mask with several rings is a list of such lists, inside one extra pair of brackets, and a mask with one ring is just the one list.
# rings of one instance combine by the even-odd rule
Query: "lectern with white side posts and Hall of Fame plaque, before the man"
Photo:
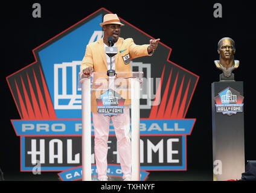
[[(143, 72), (116, 72), (108, 77), (106, 72), (94, 72), (91, 77), (81, 77), (82, 88), (82, 180), (91, 181), (91, 111), (104, 116), (116, 116), (123, 107), (131, 110), (132, 180), (140, 180), (139, 153), (139, 96)], [(79, 74), (80, 76), (80, 74)], [(97, 109), (95, 109), (97, 107)], [(93, 109), (92, 109), (93, 108)], [(97, 128), (95, 128), (97, 129)]]

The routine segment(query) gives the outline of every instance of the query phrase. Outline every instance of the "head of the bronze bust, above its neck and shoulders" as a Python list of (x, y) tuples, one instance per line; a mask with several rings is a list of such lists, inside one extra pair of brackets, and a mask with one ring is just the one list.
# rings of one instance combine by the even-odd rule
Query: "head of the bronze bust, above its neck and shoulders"
[(223, 39), (218, 48), (218, 53), (222, 59), (234, 59), (235, 48), (231, 39)]

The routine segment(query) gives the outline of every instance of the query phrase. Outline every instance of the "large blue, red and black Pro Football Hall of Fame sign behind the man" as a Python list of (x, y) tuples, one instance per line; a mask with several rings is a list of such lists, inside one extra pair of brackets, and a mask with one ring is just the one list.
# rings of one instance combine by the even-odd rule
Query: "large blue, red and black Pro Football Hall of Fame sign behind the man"
[[(21, 139), (21, 171), (59, 171), (62, 180), (82, 179), (82, 100), (78, 72), (86, 45), (103, 36), (105, 8), (95, 11), (37, 48), (35, 62), (7, 77), (21, 119), (11, 123)], [(121, 19), (121, 37), (136, 44), (153, 37)], [(141, 180), (149, 171), (186, 170), (187, 135), (195, 118), (185, 118), (199, 77), (170, 62), (171, 48), (159, 43), (152, 57), (131, 61), (132, 71), (144, 72), (141, 92)], [(117, 139), (109, 133), (108, 175), (121, 177)], [(92, 147), (94, 127), (92, 125)], [(95, 164), (92, 148), (92, 164)], [(92, 166), (92, 170), (95, 169)], [(119, 167), (119, 168), (118, 168)], [(119, 173), (118, 173), (119, 172)], [(92, 171), (93, 176), (97, 173)], [(63, 176), (64, 175), (64, 176)]]

